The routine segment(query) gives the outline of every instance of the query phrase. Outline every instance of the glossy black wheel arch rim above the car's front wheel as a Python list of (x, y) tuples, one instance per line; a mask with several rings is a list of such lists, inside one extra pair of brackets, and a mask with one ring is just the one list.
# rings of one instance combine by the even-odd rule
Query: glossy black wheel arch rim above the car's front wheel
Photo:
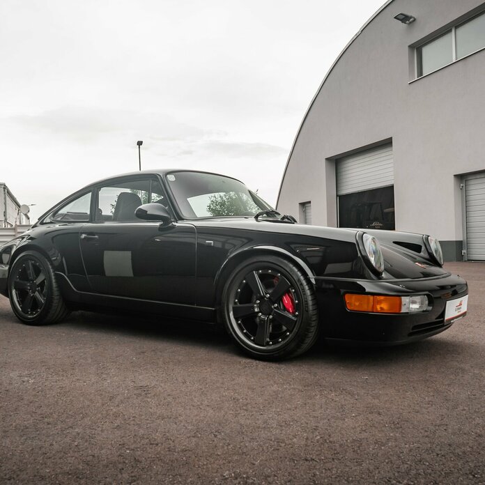
[(302, 259), (298, 258), (294, 254), (291, 254), (291, 252), (286, 251), (286, 249), (283, 249), (282, 247), (277, 247), (277, 246), (268, 246), (268, 245), (262, 245), (262, 246), (254, 246), (254, 247), (249, 247), (246, 249), (241, 249), (238, 252), (235, 252), (234, 254), (231, 254), (226, 261), (224, 261), (224, 264), (221, 266), (220, 270), (217, 272), (217, 275), (215, 275), (215, 305), (216, 307), (220, 307), (221, 301), (222, 301), (222, 292), (224, 291), (224, 285), (226, 284), (227, 278), (229, 275), (231, 275), (231, 272), (236, 269), (236, 267), (245, 261), (245, 259), (248, 259), (250, 257), (254, 256), (264, 256), (264, 255), (269, 255), (269, 256), (278, 256), (281, 259), (284, 259), (286, 261), (290, 261), (291, 263), (295, 264), (302, 270), (305, 275), (309, 278), (310, 282), (312, 284), (315, 283), (315, 274), (303, 261)]

